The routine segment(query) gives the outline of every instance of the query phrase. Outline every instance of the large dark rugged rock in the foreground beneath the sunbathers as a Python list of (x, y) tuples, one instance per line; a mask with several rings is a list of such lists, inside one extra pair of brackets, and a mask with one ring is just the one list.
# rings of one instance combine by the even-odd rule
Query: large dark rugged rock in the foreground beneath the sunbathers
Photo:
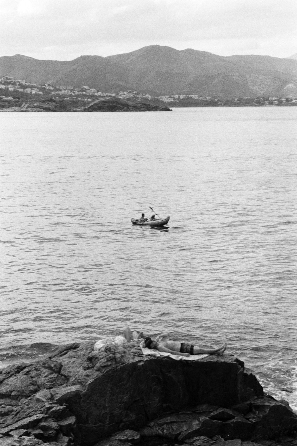
[(1, 446), (297, 444), (297, 416), (232, 355), (73, 343), (0, 371)]

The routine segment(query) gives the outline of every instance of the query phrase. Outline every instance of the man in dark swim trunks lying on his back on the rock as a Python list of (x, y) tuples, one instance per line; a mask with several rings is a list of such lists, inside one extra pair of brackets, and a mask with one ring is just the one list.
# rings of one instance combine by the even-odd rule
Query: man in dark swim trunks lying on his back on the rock
[(227, 344), (224, 344), (217, 348), (201, 348), (195, 345), (187, 343), (181, 343), (179, 341), (171, 341), (168, 338), (168, 333), (163, 333), (151, 339), (146, 337), (144, 339), (144, 345), (147, 348), (153, 348), (158, 351), (165, 351), (171, 353), (171, 355), (190, 356), (190, 355), (223, 355), (226, 350)]

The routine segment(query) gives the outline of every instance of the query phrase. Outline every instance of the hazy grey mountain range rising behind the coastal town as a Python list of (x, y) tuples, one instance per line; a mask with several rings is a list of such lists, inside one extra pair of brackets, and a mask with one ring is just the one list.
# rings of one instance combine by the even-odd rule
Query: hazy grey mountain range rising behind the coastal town
[(88, 86), (102, 92), (138, 91), (155, 96), (217, 98), (296, 97), (297, 60), (259, 55), (219, 56), (151, 45), (126, 54), (81, 56), (72, 61), (0, 57), (0, 76), (37, 85)]

